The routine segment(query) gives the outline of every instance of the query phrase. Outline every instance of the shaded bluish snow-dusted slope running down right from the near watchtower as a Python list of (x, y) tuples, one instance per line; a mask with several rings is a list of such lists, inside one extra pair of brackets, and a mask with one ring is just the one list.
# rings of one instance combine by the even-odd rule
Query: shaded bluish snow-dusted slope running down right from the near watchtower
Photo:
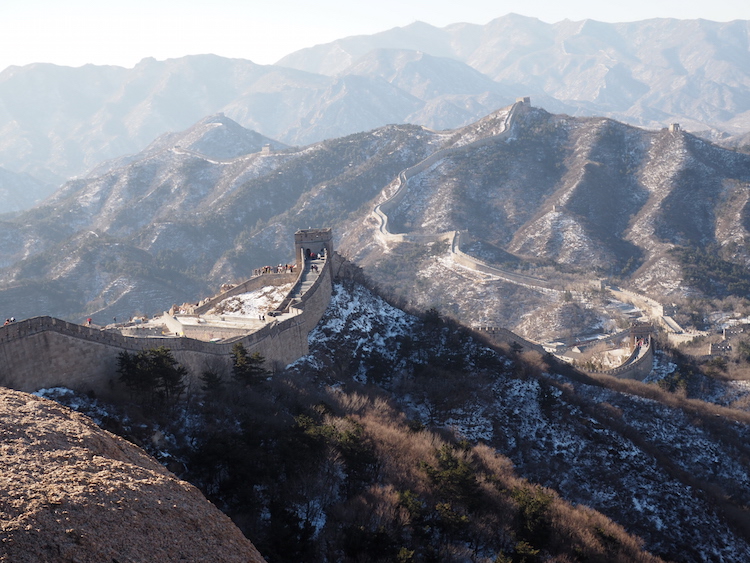
[[(481, 348), (476, 342), (463, 344), (461, 375), (434, 372), (423, 380), (425, 389), (408, 370), (382, 378), (368, 369), (399, 373), (410, 363), (429, 365), (415, 351), (425, 338), (421, 324), (361, 287), (338, 284), (310, 334), (310, 355), (290, 367), (338, 385), (337, 361), (345, 357), (356, 379), (390, 390), (410, 417), (487, 443), (529, 480), (607, 514), (653, 553), (680, 561), (750, 560), (747, 539), (701, 490), (716, 483), (739, 502), (750, 498), (750, 473), (732, 445), (750, 439), (747, 427), (729, 425), (719, 437), (689, 412), (555, 373), (527, 377), (521, 368), (519, 375), (509, 358), (498, 358), (488, 373), (472, 360)], [(441, 346), (430, 354), (443, 354)], [(660, 362), (668, 371), (668, 362)], [(446, 385), (451, 391), (440, 399), (435, 389)]]

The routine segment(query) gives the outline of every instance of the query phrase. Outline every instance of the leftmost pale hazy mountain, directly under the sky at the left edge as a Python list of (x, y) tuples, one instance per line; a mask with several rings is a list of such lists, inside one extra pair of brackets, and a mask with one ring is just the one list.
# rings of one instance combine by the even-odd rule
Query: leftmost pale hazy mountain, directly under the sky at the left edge
[[(0, 73), (0, 130), (5, 139), (0, 162), (13, 171), (59, 182), (219, 113), (259, 81), (273, 81), (278, 74), (284, 75), (284, 84), (303, 77), (304, 88), (315, 90), (316, 78), (307, 79), (305, 73), (212, 55), (144, 59), (132, 70), (9, 67)], [(279, 97), (276, 104), (284, 99)], [(259, 113), (255, 118), (273, 122), (275, 115)]]

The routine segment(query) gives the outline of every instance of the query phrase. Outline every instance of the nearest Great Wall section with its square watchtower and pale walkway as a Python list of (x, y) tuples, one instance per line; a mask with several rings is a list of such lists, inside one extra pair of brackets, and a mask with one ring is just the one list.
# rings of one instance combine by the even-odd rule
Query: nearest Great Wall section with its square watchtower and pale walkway
[[(35, 317), (0, 327), (0, 386), (27, 392), (64, 386), (108, 396), (118, 392), (117, 357), (122, 351), (159, 346), (169, 348), (175, 359), (188, 368), (193, 388), (206, 368), (229, 368), (230, 352), (236, 342), (241, 342), (249, 353), (264, 356), (271, 370), (280, 369), (308, 352), (307, 335), (328, 307), (335, 272), (342, 262), (334, 252), (331, 229), (297, 231), (295, 255), (298, 274), (292, 276), (294, 286), (287, 298), (269, 311), (268, 321), (251, 323), (245, 329), (222, 326), (221, 316), (214, 323), (206, 313), (228, 297), (286, 281), (288, 275), (256, 276), (189, 314), (167, 312), (159, 319), (168, 328), (167, 334), (154, 334), (148, 324), (101, 329), (52, 317)], [(323, 258), (315, 258), (316, 255)], [(199, 319), (204, 322), (191, 322)], [(147, 335), (138, 336), (139, 331)], [(217, 336), (221, 339), (212, 342)]]

